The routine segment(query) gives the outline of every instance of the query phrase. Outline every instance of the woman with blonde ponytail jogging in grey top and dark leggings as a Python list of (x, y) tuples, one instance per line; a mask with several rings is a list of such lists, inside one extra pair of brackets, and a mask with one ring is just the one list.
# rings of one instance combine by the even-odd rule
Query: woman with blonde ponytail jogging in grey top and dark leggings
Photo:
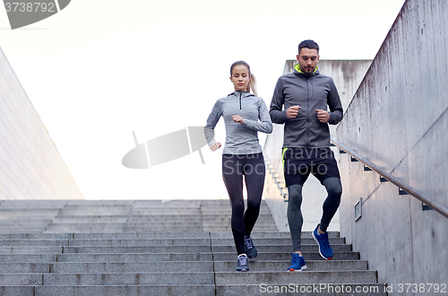
[[(230, 67), (230, 81), (235, 91), (217, 100), (204, 128), (211, 151), (220, 149), (213, 130), (224, 118), (226, 144), (222, 152), (222, 177), (232, 206), (231, 227), (237, 247), (237, 271), (249, 271), (247, 257), (256, 257), (257, 251), (250, 237), (254, 228), (264, 186), (264, 159), (257, 132), (271, 134), (269, 111), (262, 98), (257, 97), (255, 77), (244, 61)], [(254, 94), (249, 91), (252, 89)], [(260, 121), (259, 121), (260, 120)], [(243, 176), (247, 188), (247, 210), (243, 198)]]

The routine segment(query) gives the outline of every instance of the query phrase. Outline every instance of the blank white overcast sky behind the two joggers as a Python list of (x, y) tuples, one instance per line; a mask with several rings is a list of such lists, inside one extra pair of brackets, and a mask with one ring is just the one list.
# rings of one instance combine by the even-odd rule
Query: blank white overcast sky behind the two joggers
[(86, 199), (228, 198), (222, 150), (202, 148), (205, 164), (194, 152), (131, 170), (121, 160), (132, 132), (142, 143), (203, 126), (233, 91), (229, 67), (241, 59), (269, 106), (303, 39), (319, 44), (321, 59), (373, 59), (403, 3), (73, 0), (17, 30), (0, 8), (0, 47)]

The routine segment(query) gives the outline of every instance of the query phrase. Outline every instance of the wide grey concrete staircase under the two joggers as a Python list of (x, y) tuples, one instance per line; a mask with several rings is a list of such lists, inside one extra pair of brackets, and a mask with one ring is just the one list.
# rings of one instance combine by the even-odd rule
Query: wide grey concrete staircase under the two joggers
[(286, 272), (289, 233), (264, 203), (259, 255), (237, 273), (229, 225), (228, 200), (2, 201), (0, 295), (386, 294), (337, 232), (330, 261), (304, 232), (308, 269)]

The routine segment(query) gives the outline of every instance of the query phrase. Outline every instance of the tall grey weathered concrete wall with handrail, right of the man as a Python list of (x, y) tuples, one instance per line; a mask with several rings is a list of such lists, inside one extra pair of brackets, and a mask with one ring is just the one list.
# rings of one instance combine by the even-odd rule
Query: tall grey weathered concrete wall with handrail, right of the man
[[(342, 144), (448, 206), (448, 2), (408, 0), (337, 128)], [(448, 284), (448, 219), (340, 154), (340, 232), (391, 295)], [(363, 198), (362, 217), (354, 205)], [(420, 286), (419, 286), (420, 287)], [(433, 287), (434, 288), (434, 287)], [(448, 287), (445, 288), (448, 292)], [(404, 293), (413, 293), (411, 289)]]

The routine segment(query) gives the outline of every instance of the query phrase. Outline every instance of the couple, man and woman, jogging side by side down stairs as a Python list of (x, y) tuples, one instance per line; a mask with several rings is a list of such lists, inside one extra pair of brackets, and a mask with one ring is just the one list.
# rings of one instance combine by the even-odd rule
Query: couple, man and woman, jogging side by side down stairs
[[(324, 259), (332, 259), (332, 247), (326, 232), (340, 205), (342, 187), (340, 173), (330, 150), (328, 124), (342, 119), (342, 105), (332, 78), (319, 74), (319, 46), (313, 40), (298, 45), (298, 64), (294, 73), (280, 77), (275, 86), (268, 111), (262, 98), (257, 97), (255, 78), (246, 62), (230, 67), (230, 81), (235, 91), (217, 100), (204, 128), (211, 151), (221, 144), (213, 137), (213, 129), (224, 118), (226, 144), (222, 154), (222, 176), (232, 207), (231, 228), (237, 247), (237, 271), (249, 271), (248, 258), (257, 251), (250, 237), (263, 194), (265, 167), (257, 132), (271, 134), (271, 122), (285, 124), (283, 170), (288, 187), (288, 222), (293, 253), (290, 272), (305, 270), (301, 252), (303, 218), (302, 187), (311, 172), (328, 192), (323, 203), (321, 222), (313, 231)], [(249, 91), (252, 89), (254, 94)], [(327, 105), (330, 111), (326, 111)], [(284, 107), (284, 108), (283, 108)], [(247, 189), (247, 209), (243, 199), (243, 175)]]

